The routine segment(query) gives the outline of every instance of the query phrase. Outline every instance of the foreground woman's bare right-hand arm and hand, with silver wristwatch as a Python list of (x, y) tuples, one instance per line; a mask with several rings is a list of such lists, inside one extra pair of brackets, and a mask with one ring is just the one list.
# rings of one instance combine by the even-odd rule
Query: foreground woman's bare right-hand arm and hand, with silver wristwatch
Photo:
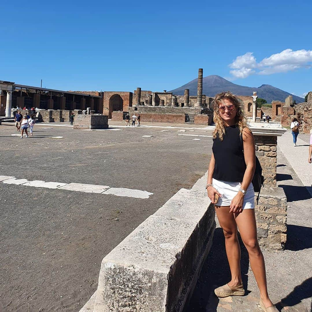
[[(244, 173), (241, 189), (246, 191), (249, 187), (251, 180), (255, 174), (256, 169), (256, 151), (255, 139), (250, 129), (243, 130), (243, 145), (244, 145), (244, 158), (246, 163), (246, 170)], [(240, 213), (243, 211), (244, 194), (238, 191), (237, 195), (233, 198), (230, 205), (230, 212)]]

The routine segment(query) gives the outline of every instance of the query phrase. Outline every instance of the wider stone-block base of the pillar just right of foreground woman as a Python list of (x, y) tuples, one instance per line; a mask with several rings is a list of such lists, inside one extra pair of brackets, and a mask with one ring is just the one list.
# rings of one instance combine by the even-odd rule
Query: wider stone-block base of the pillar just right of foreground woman
[(283, 189), (261, 188), (255, 213), (259, 245), (271, 249), (284, 249), (287, 238), (287, 198)]

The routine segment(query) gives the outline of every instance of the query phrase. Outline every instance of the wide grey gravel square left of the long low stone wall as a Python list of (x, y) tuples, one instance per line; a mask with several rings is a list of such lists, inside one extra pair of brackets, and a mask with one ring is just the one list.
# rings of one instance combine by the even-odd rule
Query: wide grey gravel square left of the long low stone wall
[(154, 193), (139, 199), (0, 183), (0, 311), (79, 311), (96, 290), (104, 256), (204, 175), (211, 138), (177, 134), (211, 132), (161, 130), (36, 124), (34, 137), (20, 139), (11, 136), (14, 126), (0, 126), (0, 175)]

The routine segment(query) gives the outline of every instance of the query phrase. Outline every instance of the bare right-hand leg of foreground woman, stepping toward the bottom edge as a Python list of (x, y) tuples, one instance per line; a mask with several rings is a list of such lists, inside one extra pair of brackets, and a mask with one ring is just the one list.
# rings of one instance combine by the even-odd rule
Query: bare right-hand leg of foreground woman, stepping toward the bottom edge
[(235, 220), (241, 239), (248, 251), (251, 270), (259, 287), (260, 297), (264, 305), (269, 307), (273, 304), (267, 291), (266, 267), (257, 239), (255, 209), (244, 209), (243, 212), (235, 214)]

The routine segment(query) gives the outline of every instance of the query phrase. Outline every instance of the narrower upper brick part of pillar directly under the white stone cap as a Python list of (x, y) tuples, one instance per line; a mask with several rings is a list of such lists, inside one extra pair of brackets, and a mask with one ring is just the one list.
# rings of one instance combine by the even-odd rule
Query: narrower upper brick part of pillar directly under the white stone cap
[(277, 137), (255, 135), (255, 144), (265, 186), (276, 186)]

